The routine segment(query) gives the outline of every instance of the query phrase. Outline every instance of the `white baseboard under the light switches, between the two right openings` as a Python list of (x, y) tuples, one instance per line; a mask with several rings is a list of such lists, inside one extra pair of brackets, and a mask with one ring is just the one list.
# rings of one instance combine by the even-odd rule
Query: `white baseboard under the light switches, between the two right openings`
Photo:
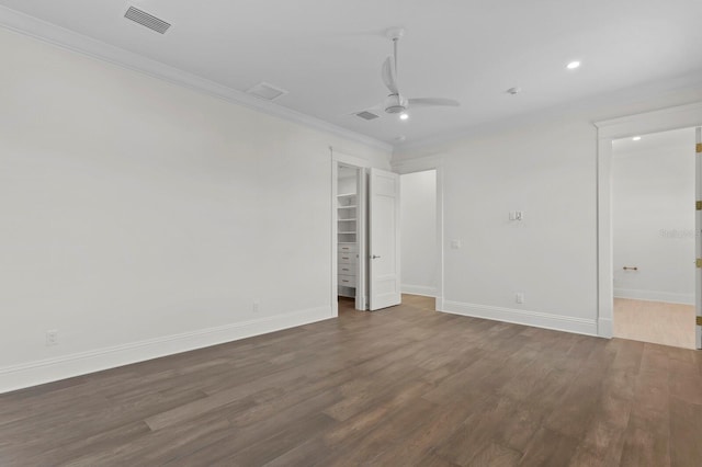
[(595, 319), (573, 318), (540, 311), (464, 304), (450, 300), (443, 300), (443, 306), (440, 311), (474, 318), (491, 319), (495, 321), (513, 322), (516, 324), (533, 326), (535, 328), (553, 329), (556, 331), (575, 332), (577, 334), (598, 335), (598, 323)]

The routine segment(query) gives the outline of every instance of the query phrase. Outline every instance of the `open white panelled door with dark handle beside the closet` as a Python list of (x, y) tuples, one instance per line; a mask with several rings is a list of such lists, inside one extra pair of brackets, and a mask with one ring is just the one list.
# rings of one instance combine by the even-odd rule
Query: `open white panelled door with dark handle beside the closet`
[(369, 175), (369, 309), (399, 305), (399, 175), (378, 169)]

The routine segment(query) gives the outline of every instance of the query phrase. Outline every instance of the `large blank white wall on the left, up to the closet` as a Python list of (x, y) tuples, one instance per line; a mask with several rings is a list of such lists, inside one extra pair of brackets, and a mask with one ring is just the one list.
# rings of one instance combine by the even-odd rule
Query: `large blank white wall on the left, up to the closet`
[(329, 146), (387, 152), (5, 30), (0, 58), (0, 391), (331, 316)]

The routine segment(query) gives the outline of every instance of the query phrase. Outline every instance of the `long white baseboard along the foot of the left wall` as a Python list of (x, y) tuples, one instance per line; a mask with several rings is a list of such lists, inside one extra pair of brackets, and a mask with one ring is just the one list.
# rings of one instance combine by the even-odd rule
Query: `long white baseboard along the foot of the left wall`
[(331, 307), (319, 307), (0, 367), (0, 394), (308, 324), (331, 317)]

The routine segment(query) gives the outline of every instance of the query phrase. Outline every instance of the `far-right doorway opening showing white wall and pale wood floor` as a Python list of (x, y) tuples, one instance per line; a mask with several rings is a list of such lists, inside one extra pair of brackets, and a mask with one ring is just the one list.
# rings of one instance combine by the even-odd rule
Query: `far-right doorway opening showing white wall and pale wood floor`
[(613, 337), (695, 348), (694, 128), (614, 139)]

